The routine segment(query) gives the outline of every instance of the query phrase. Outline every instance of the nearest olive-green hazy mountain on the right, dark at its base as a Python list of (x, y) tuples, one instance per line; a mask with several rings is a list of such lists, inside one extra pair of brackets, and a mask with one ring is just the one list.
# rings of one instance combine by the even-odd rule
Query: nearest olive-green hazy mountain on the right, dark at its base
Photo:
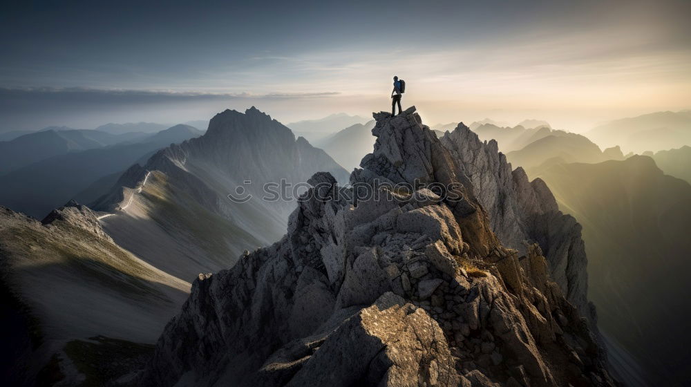
[(691, 185), (638, 155), (553, 165), (534, 177), (583, 225), (600, 328), (651, 383), (682, 386), (691, 361)]

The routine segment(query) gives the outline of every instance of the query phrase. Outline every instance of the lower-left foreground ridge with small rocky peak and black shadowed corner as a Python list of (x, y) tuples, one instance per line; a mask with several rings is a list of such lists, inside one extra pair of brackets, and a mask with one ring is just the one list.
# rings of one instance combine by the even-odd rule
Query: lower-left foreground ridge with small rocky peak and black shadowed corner
[(81, 384), (68, 343), (96, 335), (153, 343), (189, 287), (116, 245), (77, 202), (42, 221), (0, 206), (5, 384)]

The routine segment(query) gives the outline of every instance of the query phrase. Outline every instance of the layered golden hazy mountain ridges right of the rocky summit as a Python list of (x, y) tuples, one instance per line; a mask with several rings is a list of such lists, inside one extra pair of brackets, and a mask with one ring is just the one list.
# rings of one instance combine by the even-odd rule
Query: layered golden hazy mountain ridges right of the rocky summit
[[(544, 180), (560, 209), (583, 225), (589, 294), (619, 376), (634, 386), (659, 381), (680, 385), (691, 342), (675, 339), (688, 337), (683, 323), (676, 321), (684, 321), (691, 309), (661, 299), (675, 294), (676, 300), (688, 292), (677, 270), (689, 268), (679, 252), (689, 248), (681, 230), (691, 227), (691, 148), (647, 152), (650, 157), (645, 157), (624, 155), (616, 143), (601, 151), (584, 135), (547, 127), (482, 124), (475, 131), (483, 140), (496, 140), (513, 168)], [(639, 281), (648, 277), (664, 278), (665, 286), (651, 290)], [(664, 333), (645, 333), (656, 329)], [(660, 361), (670, 351), (677, 360)]]

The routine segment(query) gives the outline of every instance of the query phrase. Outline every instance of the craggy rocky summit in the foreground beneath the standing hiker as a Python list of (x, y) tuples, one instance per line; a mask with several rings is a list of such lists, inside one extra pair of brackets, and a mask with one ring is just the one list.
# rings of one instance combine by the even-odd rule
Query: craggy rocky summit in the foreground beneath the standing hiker
[(579, 312), (578, 225), (547, 187), (465, 126), (439, 140), (415, 108), (374, 117), (352, 187), (314, 174), (287, 234), (200, 275), (122, 382), (614, 385)]

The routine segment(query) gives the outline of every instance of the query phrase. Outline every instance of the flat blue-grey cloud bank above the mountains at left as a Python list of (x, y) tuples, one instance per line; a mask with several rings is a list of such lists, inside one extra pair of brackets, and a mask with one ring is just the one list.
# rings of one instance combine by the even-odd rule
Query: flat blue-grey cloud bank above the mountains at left
[[(0, 131), (32, 130), (55, 123), (95, 127), (105, 122), (184, 122), (208, 118), (225, 108), (314, 106), (338, 97), (310, 93), (212, 93), (82, 87), (0, 88)], [(244, 107), (243, 107), (244, 106)], [(283, 111), (285, 112), (286, 109)], [(290, 113), (290, 110), (288, 110)]]

